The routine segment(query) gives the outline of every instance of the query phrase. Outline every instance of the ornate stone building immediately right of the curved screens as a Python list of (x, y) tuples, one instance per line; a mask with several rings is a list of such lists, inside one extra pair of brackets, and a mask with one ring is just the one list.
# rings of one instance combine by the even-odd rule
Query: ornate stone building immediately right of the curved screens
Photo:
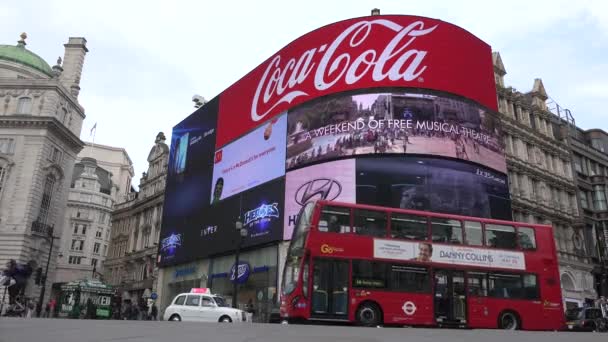
[(530, 92), (519, 92), (505, 86), (499, 53), (493, 53), (493, 62), (513, 219), (553, 226), (564, 304), (580, 306), (596, 293), (576, 200), (570, 123), (557, 107), (548, 106), (541, 79), (534, 80)]

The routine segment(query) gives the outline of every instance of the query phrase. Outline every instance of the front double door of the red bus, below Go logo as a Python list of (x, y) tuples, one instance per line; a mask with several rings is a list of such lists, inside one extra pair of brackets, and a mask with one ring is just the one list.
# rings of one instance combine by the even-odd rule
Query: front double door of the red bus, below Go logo
[(311, 317), (348, 318), (349, 261), (315, 258)]

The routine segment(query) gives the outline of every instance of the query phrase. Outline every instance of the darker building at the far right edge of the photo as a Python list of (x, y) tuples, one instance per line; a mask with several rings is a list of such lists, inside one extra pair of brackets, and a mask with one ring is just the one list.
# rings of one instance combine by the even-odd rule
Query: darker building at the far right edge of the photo
[(569, 140), (584, 219), (585, 248), (595, 264), (595, 289), (599, 296), (608, 297), (608, 133), (571, 125)]

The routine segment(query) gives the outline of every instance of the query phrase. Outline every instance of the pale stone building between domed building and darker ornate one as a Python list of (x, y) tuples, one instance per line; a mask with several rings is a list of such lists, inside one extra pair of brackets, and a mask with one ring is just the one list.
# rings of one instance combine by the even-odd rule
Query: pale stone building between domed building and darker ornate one
[(72, 175), (54, 289), (103, 274), (113, 207), (126, 200), (132, 177), (124, 148), (85, 143)]

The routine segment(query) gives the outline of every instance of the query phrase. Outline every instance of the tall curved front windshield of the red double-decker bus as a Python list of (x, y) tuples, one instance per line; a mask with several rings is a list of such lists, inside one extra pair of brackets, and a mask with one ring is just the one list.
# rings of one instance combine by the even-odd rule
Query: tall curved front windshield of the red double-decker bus
[(283, 286), (281, 288), (285, 294), (290, 294), (296, 288), (300, 263), (304, 254), (304, 242), (310, 231), (310, 221), (314, 208), (314, 202), (304, 205), (293, 230), (287, 260), (285, 261), (285, 270), (283, 271)]

